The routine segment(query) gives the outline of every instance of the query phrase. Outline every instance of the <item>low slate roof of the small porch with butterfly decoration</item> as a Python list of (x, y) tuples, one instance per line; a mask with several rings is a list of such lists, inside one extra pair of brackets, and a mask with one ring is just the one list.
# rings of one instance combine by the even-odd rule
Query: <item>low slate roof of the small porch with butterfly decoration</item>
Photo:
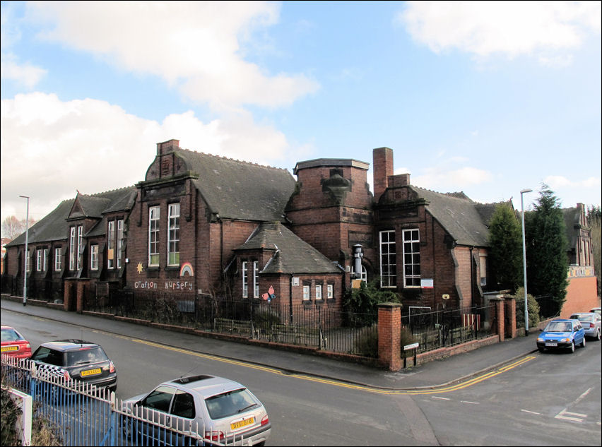
[(340, 267), (297, 237), (281, 222), (261, 223), (247, 242), (237, 248), (237, 251), (256, 249), (274, 251), (270, 261), (260, 273), (292, 273), (296, 275), (343, 273)]

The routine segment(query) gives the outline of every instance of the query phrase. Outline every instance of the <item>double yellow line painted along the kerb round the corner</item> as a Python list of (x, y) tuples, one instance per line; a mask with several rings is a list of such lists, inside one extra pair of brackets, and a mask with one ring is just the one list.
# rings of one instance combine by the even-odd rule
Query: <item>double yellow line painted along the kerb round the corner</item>
[(245, 368), (256, 369), (258, 371), (264, 371), (264, 372), (268, 372), (271, 374), (278, 374), (281, 376), (294, 377), (295, 379), (302, 379), (302, 380), (307, 380), (307, 381), (312, 381), (312, 382), (317, 382), (317, 383), (324, 383), (326, 385), (331, 385), (331, 386), (338, 386), (341, 388), (349, 388), (349, 389), (353, 389), (353, 390), (366, 391), (368, 393), (377, 393), (377, 394), (385, 394), (385, 395), (417, 395), (417, 394), (451, 393), (451, 391), (458, 391), (458, 390), (461, 390), (464, 388), (468, 388), (469, 386), (476, 385), (476, 383), (480, 383), (487, 379), (491, 379), (492, 377), (498, 376), (499, 374), (509, 371), (510, 369), (514, 369), (517, 366), (521, 366), (522, 364), (525, 364), (526, 362), (530, 362), (531, 360), (536, 358), (533, 356), (522, 357), (521, 359), (517, 360), (516, 362), (506, 364), (506, 365), (500, 367), (499, 369), (488, 371), (485, 374), (473, 377), (472, 379), (468, 379), (466, 381), (462, 381), (462, 382), (456, 383), (451, 386), (442, 386), (439, 388), (411, 389), (411, 390), (402, 390), (402, 389), (391, 390), (391, 389), (377, 388), (374, 386), (365, 386), (365, 385), (358, 385), (358, 384), (353, 384), (353, 383), (345, 383), (343, 381), (338, 381), (338, 380), (333, 380), (333, 379), (325, 379), (325, 378), (318, 377), (318, 376), (308, 376), (306, 374), (288, 374), (280, 369), (271, 368), (269, 366), (261, 366), (261, 365), (253, 364), (253, 363), (249, 363), (249, 362), (241, 362), (240, 360), (226, 359), (224, 357), (218, 357), (216, 355), (211, 355), (211, 354), (201, 354), (200, 352), (184, 350), (179, 347), (162, 345), (160, 343), (149, 342), (146, 340), (140, 340), (140, 339), (136, 339), (136, 338), (131, 338), (130, 340), (133, 342), (136, 342), (136, 343), (142, 343), (144, 345), (158, 347), (158, 348), (164, 349), (164, 350), (180, 352), (182, 354), (193, 355), (194, 357), (201, 357), (203, 359), (215, 360), (216, 362), (228, 363), (228, 364), (233, 364), (233, 365), (237, 365), (237, 366), (244, 366)]

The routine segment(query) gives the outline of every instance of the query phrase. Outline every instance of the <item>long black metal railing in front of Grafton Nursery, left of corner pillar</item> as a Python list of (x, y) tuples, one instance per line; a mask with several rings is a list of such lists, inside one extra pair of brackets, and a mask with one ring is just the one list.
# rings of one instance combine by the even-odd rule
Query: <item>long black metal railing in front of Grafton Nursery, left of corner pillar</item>
[(376, 314), (351, 314), (334, 303), (293, 304), (257, 299), (223, 299), (193, 292), (85, 290), (83, 309), (153, 323), (315, 347), (348, 354), (376, 355)]

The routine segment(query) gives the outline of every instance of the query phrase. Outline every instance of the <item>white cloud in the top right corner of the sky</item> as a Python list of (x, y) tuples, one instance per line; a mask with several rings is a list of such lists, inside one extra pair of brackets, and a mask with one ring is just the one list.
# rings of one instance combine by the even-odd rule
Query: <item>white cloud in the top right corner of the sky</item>
[(599, 1), (408, 1), (396, 22), (437, 53), (544, 52), (542, 62), (566, 64), (548, 53), (579, 47), (586, 32), (600, 32), (600, 17)]

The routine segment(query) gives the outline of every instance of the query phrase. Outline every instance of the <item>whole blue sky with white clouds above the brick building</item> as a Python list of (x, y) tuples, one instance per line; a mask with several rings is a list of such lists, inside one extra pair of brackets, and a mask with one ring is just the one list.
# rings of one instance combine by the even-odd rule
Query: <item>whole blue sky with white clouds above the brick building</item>
[(1, 220), (132, 186), (172, 138), (600, 205), (601, 54), (599, 1), (1, 1)]

